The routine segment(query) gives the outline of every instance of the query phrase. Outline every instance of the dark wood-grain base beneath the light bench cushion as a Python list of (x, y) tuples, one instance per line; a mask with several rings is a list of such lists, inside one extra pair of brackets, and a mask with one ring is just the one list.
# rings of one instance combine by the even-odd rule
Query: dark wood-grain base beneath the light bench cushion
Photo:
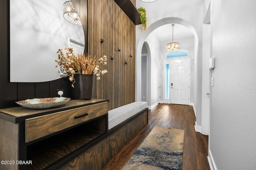
[(147, 124), (148, 108), (110, 129), (98, 140), (98, 143), (61, 169), (102, 169)]

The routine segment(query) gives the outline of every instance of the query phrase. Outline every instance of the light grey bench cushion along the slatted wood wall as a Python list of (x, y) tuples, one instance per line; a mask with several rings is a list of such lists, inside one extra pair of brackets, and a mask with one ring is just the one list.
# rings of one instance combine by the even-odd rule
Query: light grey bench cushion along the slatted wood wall
[(108, 130), (147, 108), (147, 102), (133, 102), (108, 111)]

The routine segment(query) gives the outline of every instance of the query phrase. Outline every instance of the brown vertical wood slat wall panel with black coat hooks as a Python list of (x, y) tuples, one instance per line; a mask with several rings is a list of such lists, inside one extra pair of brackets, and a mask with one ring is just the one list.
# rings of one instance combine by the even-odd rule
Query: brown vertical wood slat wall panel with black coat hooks
[(93, 98), (109, 99), (109, 109), (134, 102), (135, 25), (114, 0), (88, 0), (88, 54), (108, 57), (101, 67), (108, 73), (95, 79)]

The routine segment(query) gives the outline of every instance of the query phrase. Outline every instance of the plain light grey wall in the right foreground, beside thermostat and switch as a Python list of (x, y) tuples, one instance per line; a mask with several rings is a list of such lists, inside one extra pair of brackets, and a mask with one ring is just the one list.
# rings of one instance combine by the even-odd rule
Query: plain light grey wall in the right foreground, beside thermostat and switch
[(256, 167), (256, 1), (212, 0), (210, 153), (218, 170)]

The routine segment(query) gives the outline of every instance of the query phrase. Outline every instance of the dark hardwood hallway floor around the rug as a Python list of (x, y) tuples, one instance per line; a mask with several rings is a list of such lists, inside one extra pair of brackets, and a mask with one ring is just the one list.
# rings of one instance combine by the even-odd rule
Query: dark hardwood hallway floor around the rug
[(183, 170), (210, 170), (208, 156), (208, 136), (195, 131), (196, 117), (192, 106), (159, 104), (149, 110), (149, 123), (127, 145), (112, 158), (103, 170), (120, 170), (129, 160), (155, 125), (183, 129), (184, 153)]

